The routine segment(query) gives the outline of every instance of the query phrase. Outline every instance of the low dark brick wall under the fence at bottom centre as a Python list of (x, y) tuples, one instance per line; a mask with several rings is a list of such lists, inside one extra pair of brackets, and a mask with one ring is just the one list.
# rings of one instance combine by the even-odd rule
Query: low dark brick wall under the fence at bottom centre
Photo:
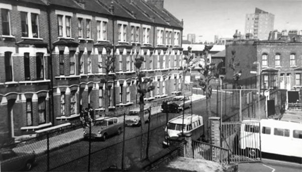
[(178, 154), (178, 147), (176, 145), (171, 145), (168, 148), (152, 155), (148, 159), (138, 162), (135, 166), (129, 168), (128, 171), (155, 171), (162, 165), (178, 157)]

